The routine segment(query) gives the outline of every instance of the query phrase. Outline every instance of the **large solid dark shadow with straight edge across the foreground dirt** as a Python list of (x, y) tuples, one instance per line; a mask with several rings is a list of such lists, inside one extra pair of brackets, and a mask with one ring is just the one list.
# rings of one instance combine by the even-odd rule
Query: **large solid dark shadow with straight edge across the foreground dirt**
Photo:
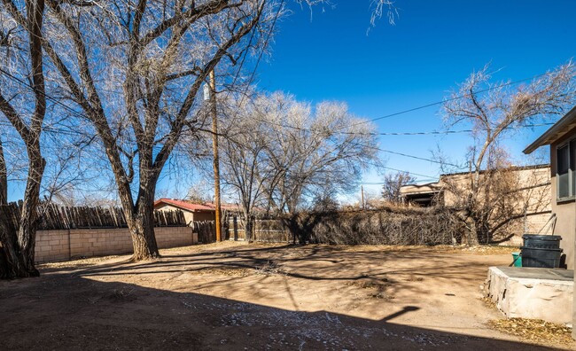
[(545, 350), (394, 324), (172, 292), (71, 274), (0, 282), (3, 349)]

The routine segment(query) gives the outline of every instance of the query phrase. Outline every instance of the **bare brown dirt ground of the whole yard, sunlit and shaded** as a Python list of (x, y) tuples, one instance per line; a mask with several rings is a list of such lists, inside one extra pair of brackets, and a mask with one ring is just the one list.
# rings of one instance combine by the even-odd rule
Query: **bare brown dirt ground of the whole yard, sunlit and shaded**
[(510, 249), (225, 242), (49, 263), (0, 282), (0, 349), (576, 348), (487, 326), (487, 267)]

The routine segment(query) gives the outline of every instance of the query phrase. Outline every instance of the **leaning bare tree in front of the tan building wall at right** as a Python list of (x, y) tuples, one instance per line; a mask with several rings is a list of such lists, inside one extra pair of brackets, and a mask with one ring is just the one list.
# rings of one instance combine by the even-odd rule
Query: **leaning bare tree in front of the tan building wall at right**
[(494, 194), (511, 191), (503, 189), (508, 186), (496, 191), (501, 184), (513, 183), (502, 181), (506, 173), (496, 171), (510, 163), (500, 145), (502, 138), (515, 127), (562, 114), (572, 106), (575, 74), (570, 62), (513, 89), (510, 82), (491, 83), (489, 66), (485, 66), (447, 98), (444, 120), (448, 126), (470, 125), (474, 141), (469, 151), (470, 177), (459, 190), (452, 190), (458, 194), (458, 214), (468, 230), (469, 245), (477, 245), (479, 237), (487, 238)]

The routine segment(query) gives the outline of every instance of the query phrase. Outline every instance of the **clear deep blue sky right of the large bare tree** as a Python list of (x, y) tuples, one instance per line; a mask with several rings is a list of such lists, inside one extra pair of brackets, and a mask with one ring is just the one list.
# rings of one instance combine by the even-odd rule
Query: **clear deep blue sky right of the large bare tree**
[[(269, 58), (258, 69), (262, 90), (283, 90), (311, 103), (346, 101), (352, 113), (378, 118), (448, 95), (488, 62), (502, 68), (494, 78), (517, 81), (542, 74), (576, 56), (576, 1), (397, 0), (395, 25), (384, 18), (370, 27), (370, 0), (333, 0), (301, 9), (277, 25)], [(369, 30), (369, 33), (367, 31)], [(442, 128), (439, 106), (377, 122), (379, 132)], [(506, 144), (518, 164), (546, 127), (524, 130)], [(380, 147), (430, 158), (437, 145), (463, 160), (469, 136), (381, 136)], [(386, 166), (437, 176), (438, 165), (383, 154)], [(420, 177), (424, 180), (424, 177)], [(381, 182), (370, 173), (364, 183)], [(378, 185), (368, 185), (378, 191)]]

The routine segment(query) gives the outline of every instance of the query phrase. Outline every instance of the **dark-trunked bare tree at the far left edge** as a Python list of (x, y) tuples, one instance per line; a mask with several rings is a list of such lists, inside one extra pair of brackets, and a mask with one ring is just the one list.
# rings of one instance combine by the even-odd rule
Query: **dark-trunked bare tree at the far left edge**
[[(5, 7), (0, 11), (3, 18), (8, 16)], [(0, 242), (3, 246), (0, 273), (4, 277), (35, 277), (39, 274), (35, 269), (34, 250), (40, 186), (45, 167), (40, 148), (46, 114), (43, 14), (42, 0), (27, 1), (24, 13), (18, 12), (19, 23), (12, 14), (9, 22), (13, 27), (3, 28), (6, 31), (2, 33), (4, 45), (1, 50), (6, 61), (1, 71), (0, 112), (25, 144), (27, 156), (27, 183), (19, 208), (18, 232), (5, 218), (5, 211), (2, 211), (4, 218), (0, 218)], [(30, 89), (22, 89), (22, 85), (29, 85), (26, 88)], [(0, 148), (0, 210), (7, 210), (6, 175), (4, 148)], [(0, 213), (0, 217), (3, 217), (3, 213)]]

